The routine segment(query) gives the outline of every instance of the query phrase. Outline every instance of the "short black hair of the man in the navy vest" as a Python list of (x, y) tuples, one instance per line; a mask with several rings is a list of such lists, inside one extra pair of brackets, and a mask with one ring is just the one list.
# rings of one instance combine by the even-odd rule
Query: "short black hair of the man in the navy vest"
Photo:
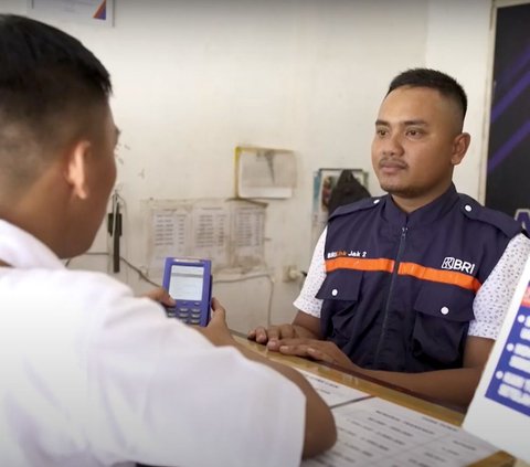
[(453, 99), (462, 110), (462, 119), (466, 117), (467, 96), (464, 87), (452, 76), (431, 68), (411, 68), (395, 76), (389, 86), (386, 95), (398, 87), (430, 87), (443, 96)]

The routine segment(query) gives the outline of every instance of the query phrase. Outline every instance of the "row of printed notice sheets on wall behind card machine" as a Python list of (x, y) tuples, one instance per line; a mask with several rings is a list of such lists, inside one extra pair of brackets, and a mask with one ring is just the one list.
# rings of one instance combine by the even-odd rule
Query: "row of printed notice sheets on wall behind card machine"
[(144, 200), (144, 268), (161, 277), (168, 256), (211, 259), (213, 272), (265, 267), (266, 204), (245, 200)]

